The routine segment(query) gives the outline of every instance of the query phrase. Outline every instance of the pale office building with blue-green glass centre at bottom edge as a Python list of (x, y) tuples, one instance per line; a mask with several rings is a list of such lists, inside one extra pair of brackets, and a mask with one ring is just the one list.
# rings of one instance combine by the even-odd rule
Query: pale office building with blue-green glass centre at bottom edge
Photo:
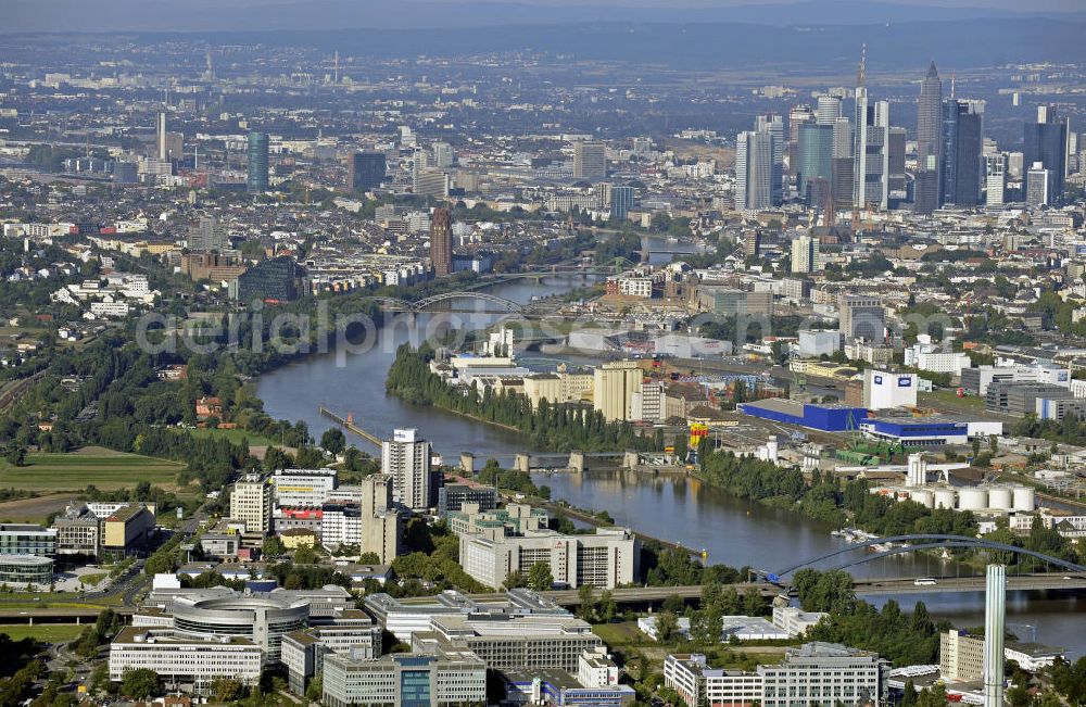
[(394, 654), (378, 659), (353, 654), (329, 655), (324, 660), (320, 703), (327, 707), (484, 704), (487, 668), (469, 651)]

